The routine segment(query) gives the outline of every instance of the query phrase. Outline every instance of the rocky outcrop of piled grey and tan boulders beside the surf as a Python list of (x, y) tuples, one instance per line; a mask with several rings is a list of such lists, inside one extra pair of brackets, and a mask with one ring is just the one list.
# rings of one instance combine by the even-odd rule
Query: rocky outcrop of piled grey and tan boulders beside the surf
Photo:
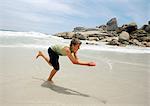
[(135, 22), (118, 27), (117, 19), (112, 18), (106, 25), (96, 26), (96, 28), (76, 27), (71, 32), (57, 33), (55, 36), (64, 39), (75, 37), (87, 41), (107, 42), (108, 45), (116, 46), (150, 47), (150, 21), (148, 25), (143, 25), (138, 29)]

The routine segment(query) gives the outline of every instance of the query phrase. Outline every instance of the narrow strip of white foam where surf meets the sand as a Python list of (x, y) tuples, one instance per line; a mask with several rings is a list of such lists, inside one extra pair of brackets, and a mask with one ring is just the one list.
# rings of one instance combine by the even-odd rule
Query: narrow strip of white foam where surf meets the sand
[[(27, 49), (42, 49), (47, 50), (49, 46), (47, 45), (1, 45), (0, 48), (27, 48)], [(150, 48), (148, 47), (138, 47), (138, 46), (112, 46), (112, 45), (81, 45), (81, 50), (89, 50), (95, 52), (117, 52), (117, 53), (139, 53), (139, 54), (149, 54)]]

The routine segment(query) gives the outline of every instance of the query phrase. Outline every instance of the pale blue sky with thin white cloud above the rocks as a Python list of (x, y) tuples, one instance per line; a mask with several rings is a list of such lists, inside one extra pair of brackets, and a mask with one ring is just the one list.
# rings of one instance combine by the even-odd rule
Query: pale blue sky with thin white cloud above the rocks
[(149, 0), (0, 0), (0, 29), (48, 34), (95, 28), (116, 18), (118, 26), (150, 21)]

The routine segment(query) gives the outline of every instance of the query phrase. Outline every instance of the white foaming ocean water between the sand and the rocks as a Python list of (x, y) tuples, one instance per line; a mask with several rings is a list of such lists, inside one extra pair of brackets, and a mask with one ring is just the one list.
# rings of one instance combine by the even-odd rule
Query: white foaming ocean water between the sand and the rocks
[[(122, 53), (150, 53), (150, 48), (146, 47), (117, 47), (105, 45), (100, 42), (93, 42), (97, 45), (87, 45), (82, 40), (81, 50), (92, 50), (92, 51), (111, 51), (111, 52), (122, 52)], [(25, 48), (42, 48), (47, 49), (49, 46), (54, 44), (69, 45), (70, 39), (63, 39), (57, 36), (52, 36), (40, 32), (16, 32), (16, 31), (0, 31), (0, 47), (25, 47)]]

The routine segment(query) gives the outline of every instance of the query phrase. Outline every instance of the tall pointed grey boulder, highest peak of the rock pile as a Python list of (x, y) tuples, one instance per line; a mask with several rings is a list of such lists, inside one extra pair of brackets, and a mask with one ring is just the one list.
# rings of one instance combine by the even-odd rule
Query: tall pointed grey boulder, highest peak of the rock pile
[(117, 19), (116, 18), (112, 18), (111, 20), (109, 20), (107, 22), (107, 30), (108, 31), (115, 31), (118, 28), (117, 25)]

